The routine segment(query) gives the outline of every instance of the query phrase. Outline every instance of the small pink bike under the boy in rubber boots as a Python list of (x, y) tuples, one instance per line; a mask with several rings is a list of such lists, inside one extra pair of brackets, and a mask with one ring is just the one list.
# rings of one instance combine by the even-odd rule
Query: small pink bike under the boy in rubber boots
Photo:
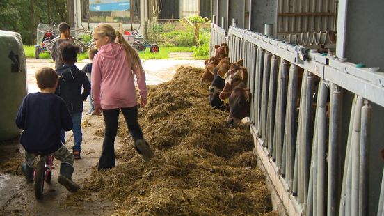
[(40, 160), (33, 171), (33, 189), (36, 199), (42, 199), (44, 182), (51, 183), (54, 156), (39, 154)]

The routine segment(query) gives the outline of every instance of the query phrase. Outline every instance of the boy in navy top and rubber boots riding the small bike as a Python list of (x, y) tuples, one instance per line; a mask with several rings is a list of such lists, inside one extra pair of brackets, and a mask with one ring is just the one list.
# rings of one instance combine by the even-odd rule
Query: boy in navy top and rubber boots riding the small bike
[(37, 93), (29, 93), (20, 105), (16, 125), (23, 129), (20, 144), (25, 149), (22, 171), (29, 182), (33, 181), (33, 163), (38, 154), (53, 155), (61, 161), (58, 183), (70, 192), (79, 186), (72, 181), (74, 157), (60, 141), (61, 130), (72, 129), (72, 118), (62, 98), (54, 95), (58, 75), (51, 68), (36, 72)]

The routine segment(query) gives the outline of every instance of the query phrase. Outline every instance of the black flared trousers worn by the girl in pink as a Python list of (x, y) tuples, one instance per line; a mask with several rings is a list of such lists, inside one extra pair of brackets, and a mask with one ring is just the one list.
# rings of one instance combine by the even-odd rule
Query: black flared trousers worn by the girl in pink
[[(137, 106), (121, 108), (127, 123), (129, 134), (134, 139), (143, 139), (143, 132), (138, 125)], [(119, 109), (103, 110), (105, 134), (102, 155), (99, 159), (99, 170), (115, 167), (115, 137), (118, 133)]]

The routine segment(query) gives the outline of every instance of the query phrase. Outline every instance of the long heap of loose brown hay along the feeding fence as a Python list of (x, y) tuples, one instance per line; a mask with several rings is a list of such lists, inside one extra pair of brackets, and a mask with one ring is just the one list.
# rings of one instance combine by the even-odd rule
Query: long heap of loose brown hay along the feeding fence
[(155, 153), (150, 162), (134, 151), (120, 115), (118, 135), (127, 145), (117, 153), (118, 166), (95, 171), (84, 181), (83, 194), (68, 202), (99, 192), (113, 200), (117, 213), (129, 215), (269, 213), (264, 174), (251, 152), (253, 138), (248, 129), (225, 128), (227, 113), (210, 107), (201, 74), (182, 67), (172, 81), (150, 86), (148, 104), (139, 109), (144, 137)]

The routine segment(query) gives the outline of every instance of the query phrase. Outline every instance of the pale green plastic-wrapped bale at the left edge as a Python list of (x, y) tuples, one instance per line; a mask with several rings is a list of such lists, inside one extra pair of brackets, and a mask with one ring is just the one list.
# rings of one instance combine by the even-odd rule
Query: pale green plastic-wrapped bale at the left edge
[(0, 30), (0, 141), (20, 134), (15, 125), (19, 105), (27, 93), (22, 36)]

